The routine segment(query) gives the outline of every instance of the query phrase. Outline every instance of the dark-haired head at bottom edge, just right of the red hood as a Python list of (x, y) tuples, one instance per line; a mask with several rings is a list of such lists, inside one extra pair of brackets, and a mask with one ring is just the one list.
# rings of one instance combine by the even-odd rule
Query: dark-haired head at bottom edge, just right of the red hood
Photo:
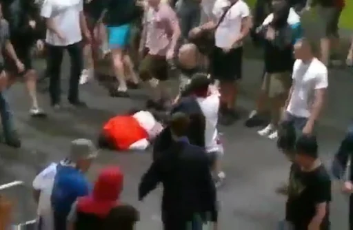
[(104, 221), (104, 230), (132, 230), (135, 222), (139, 221), (140, 214), (131, 205), (118, 205), (110, 210)]

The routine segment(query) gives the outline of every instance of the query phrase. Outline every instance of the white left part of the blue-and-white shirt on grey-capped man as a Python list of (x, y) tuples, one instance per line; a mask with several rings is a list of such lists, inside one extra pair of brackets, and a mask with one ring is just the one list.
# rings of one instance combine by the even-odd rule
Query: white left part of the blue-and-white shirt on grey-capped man
[(50, 196), (52, 195), (54, 178), (57, 175), (57, 165), (57, 163), (50, 164), (34, 178), (32, 183), (33, 189), (41, 191), (37, 214), (41, 216), (43, 229), (46, 230), (54, 229)]

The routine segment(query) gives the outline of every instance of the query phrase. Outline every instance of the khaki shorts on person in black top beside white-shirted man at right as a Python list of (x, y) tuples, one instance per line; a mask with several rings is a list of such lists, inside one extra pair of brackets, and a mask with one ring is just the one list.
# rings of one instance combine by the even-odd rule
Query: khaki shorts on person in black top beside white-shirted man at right
[(288, 94), (292, 86), (292, 74), (290, 72), (265, 73), (261, 90), (270, 98), (281, 94)]

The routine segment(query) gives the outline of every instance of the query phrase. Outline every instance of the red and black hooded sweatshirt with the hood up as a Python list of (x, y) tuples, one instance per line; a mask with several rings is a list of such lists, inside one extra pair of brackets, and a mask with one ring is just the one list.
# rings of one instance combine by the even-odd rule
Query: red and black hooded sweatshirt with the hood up
[(103, 169), (94, 184), (92, 195), (77, 200), (75, 230), (100, 229), (110, 210), (119, 205), (122, 189), (123, 173), (119, 167)]

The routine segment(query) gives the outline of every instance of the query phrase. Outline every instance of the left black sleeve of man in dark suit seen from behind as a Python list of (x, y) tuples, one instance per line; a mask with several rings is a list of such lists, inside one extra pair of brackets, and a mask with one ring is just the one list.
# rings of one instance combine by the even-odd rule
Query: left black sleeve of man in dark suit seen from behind
[(143, 200), (161, 181), (161, 173), (159, 171), (160, 160), (160, 158), (154, 160), (148, 171), (143, 174), (139, 183), (139, 200)]

